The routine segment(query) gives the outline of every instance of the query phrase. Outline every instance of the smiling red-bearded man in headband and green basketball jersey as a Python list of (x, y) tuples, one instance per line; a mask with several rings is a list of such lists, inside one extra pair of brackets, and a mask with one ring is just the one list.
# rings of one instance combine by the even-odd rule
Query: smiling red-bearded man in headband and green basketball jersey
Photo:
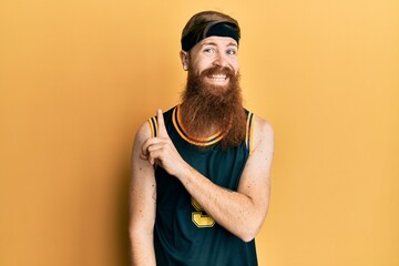
[(132, 153), (133, 265), (257, 265), (273, 131), (242, 105), (239, 27), (214, 11), (182, 33), (182, 103), (139, 130)]

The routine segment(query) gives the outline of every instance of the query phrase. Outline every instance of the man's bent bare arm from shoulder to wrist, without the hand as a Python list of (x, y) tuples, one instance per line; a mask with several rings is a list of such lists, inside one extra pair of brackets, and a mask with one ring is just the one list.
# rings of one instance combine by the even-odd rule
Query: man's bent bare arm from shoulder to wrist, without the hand
[(246, 242), (259, 232), (269, 203), (273, 131), (257, 119), (254, 133), (256, 146), (245, 165), (237, 192), (213, 184), (192, 167), (177, 175), (207, 214)]

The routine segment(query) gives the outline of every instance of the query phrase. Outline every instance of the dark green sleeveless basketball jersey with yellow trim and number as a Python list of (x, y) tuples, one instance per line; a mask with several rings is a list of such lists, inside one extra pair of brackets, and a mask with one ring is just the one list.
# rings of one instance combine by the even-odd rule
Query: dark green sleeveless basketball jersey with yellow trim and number
[[(180, 106), (164, 113), (166, 131), (180, 155), (216, 185), (237, 191), (245, 163), (252, 152), (253, 113), (246, 111), (246, 140), (223, 150), (222, 134), (190, 139), (180, 122)], [(156, 136), (156, 116), (149, 120)], [(187, 266), (257, 265), (255, 241), (243, 242), (208, 216), (183, 184), (162, 167), (155, 168), (156, 218), (154, 249), (156, 264)]]

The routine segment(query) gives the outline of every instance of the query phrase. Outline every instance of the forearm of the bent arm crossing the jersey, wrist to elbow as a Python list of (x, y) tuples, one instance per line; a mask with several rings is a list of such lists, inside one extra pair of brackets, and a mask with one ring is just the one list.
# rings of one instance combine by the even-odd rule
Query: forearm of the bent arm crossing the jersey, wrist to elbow
[(205, 212), (232, 234), (248, 242), (258, 233), (265, 212), (253, 198), (215, 185), (190, 165), (177, 178)]

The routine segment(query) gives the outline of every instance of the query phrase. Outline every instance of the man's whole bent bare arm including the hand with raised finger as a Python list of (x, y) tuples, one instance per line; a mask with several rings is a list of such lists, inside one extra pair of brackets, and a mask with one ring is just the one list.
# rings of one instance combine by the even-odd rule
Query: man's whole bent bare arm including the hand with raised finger
[(273, 130), (264, 120), (256, 117), (254, 152), (244, 168), (237, 192), (226, 191), (191, 167), (178, 155), (164, 130), (158, 112), (158, 137), (143, 145), (143, 155), (151, 164), (160, 162), (176, 176), (219, 225), (243, 241), (253, 239), (266, 217), (269, 202), (270, 167), (274, 150)]

